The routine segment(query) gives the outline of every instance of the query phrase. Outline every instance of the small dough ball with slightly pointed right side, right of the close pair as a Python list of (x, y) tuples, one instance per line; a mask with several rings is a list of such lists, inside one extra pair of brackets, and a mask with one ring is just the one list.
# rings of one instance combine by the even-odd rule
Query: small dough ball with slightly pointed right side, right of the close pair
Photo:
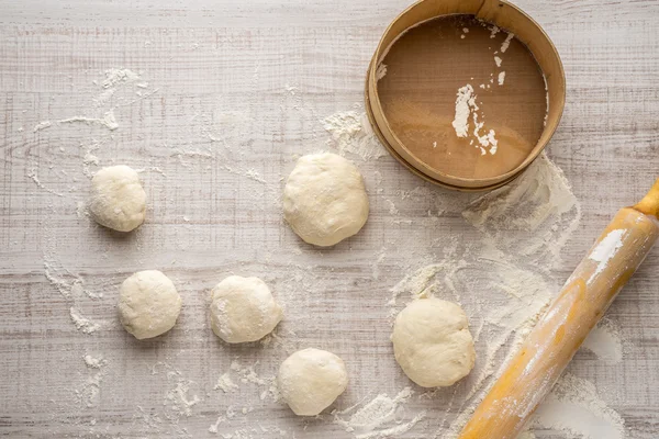
[(231, 275), (211, 292), (211, 326), (226, 342), (256, 341), (275, 329), (283, 313), (258, 278)]

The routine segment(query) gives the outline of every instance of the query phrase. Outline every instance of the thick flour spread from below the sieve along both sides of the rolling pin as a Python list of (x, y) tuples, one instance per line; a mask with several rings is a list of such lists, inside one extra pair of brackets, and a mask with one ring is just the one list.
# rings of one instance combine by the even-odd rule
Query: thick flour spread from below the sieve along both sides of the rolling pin
[[(388, 303), (390, 318), (399, 313), (401, 297), (416, 301), (431, 296), (460, 303), (474, 328), (477, 351), (484, 352), (465, 380), (465, 389), (454, 393), (461, 415), (439, 423), (435, 437), (442, 439), (458, 436), (506, 359), (558, 291), (552, 267), (579, 225), (581, 207), (560, 169), (541, 156), (522, 178), (474, 200), (462, 215), (480, 230), (482, 241), (445, 248), (443, 259), (395, 285)], [(622, 356), (619, 336), (610, 329), (612, 325), (604, 323), (596, 328), (584, 345), (604, 362), (619, 361), (616, 359)], [(436, 396), (436, 391), (429, 394)], [(596, 396), (592, 384), (571, 375), (557, 384), (530, 427), (592, 439), (627, 437), (621, 416)], [(525, 435), (535, 437), (533, 431)]]

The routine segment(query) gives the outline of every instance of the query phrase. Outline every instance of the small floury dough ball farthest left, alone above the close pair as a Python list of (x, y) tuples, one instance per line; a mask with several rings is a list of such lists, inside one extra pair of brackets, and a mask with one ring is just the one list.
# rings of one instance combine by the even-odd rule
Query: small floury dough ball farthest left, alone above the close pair
[(146, 193), (134, 169), (121, 165), (103, 168), (91, 179), (92, 217), (102, 226), (131, 232), (144, 223)]

